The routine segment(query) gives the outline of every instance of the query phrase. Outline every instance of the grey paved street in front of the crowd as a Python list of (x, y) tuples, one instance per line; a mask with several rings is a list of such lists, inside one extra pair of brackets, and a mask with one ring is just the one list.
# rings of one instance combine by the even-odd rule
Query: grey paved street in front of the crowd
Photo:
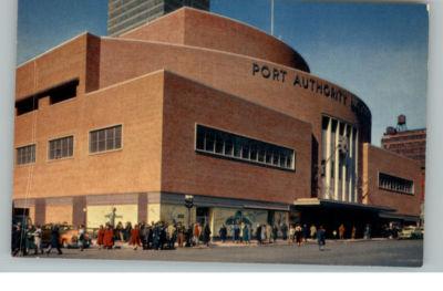
[[(420, 267), (423, 259), (422, 240), (371, 240), (371, 241), (327, 241), (326, 250), (319, 251), (315, 242), (301, 247), (279, 242), (268, 246), (235, 246), (218, 243), (210, 247), (183, 248), (177, 250), (142, 250), (131, 248), (114, 250), (63, 249), (50, 258), (109, 259), (109, 260), (167, 260), (254, 263), (313, 263), (344, 266), (394, 266)], [(33, 258), (30, 256), (29, 259)], [(42, 256), (42, 259), (47, 256)]]

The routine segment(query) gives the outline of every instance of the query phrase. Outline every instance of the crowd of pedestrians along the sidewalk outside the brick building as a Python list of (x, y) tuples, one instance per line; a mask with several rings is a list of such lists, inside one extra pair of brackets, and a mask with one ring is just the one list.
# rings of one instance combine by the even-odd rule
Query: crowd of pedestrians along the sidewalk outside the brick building
[[(337, 231), (338, 230), (338, 231)], [(344, 239), (347, 229), (344, 225), (340, 225), (338, 229), (332, 229), (330, 233), (332, 237)], [(351, 238), (356, 237), (356, 227), (351, 229)], [(370, 226), (364, 229), (364, 237), (370, 237)], [(12, 228), (12, 243), (11, 250), (13, 256), (27, 256), (31, 251), (34, 254), (50, 254), (54, 249), (59, 254), (62, 254), (60, 246), (60, 229), (59, 226), (51, 226), (50, 239), (45, 241), (43, 248), (43, 231), (41, 226), (29, 225), (22, 226), (17, 224)], [(47, 230), (48, 233), (48, 230)], [(185, 227), (182, 222), (167, 224), (163, 221), (151, 224), (136, 224), (132, 225), (126, 222), (123, 225), (121, 221), (113, 227), (111, 224), (100, 226), (95, 233), (96, 246), (99, 249), (117, 249), (123, 245), (131, 246), (134, 250), (138, 248), (143, 250), (164, 250), (175, 249), (176, 247), (194, 247), (207, 246), (212, 241), (212, 230), (208, 224), (195, 222)], [(320, 226), (317, 228), (315, 225), (308, 227), (307, 225), (291, 224), (286, 225), (269, 225), (258, 224), (253, 227), (250, 224), (235, 221), (233, 225), (223, 225), (218, 230), (219, 240), (225, 243), (231, 241), (233, 243), (249, 245), (251, 239), (257, 241), (257, 245), (269, 245), (281, 238), (288, 241), (289, 245), (302, 246), (308, 239), (317, 241), (319, 249), (322, 250), (326, 245), (327, 231)], [(48, 239), (47, 239), (48, 240)], [(90, 243), (89, 235), (83, 225), (78, 228), (76, 247), (81, 251)]]

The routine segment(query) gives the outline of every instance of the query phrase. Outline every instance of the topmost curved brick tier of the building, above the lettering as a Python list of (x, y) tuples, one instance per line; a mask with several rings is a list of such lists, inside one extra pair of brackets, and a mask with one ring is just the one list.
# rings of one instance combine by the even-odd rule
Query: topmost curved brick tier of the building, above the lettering
[(305, 60), (278, 39), (238, 21), (196, 9), (179, 9), (120, 38), (207, 48), (308, 70)]

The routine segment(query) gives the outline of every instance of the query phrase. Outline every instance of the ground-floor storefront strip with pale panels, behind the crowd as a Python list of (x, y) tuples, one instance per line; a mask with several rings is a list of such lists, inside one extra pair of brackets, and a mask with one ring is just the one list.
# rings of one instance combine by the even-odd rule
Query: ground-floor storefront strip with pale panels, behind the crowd
[[(40, 198), (14, 200), (14, 220), (29, 218), (33, 224), (85, 225), (87, 229), (97, 229), (110, 224), (132, 226), (138, 222), (167, 224), (181, 222), (184, 226), (206, 224), (212, 237), (219, 236), (223, 225), (227, 227), (227, 237), (234, 233), (234, 226), (247, 225), (251, 235), (260, 225), (277, 226), (278, 237), (292, 225), (310, 230), (322, 226), (328, 238), (339, 236), (344, 228), (344, 238), (383, 236), (383, 230), (392, 224), (414, 224), (413, 216), (395, 215), (395, 209), (352, 202), (339, 202), (318, 198), (298, 199), (295, 204), (278, 204), (209, 196), (192, 196), (192, 207), (186, 207), (186, 196), (173, 193), (140, 193), (94, 195), (62, 198)], [(308, 232), (308, 231), (306, 231)], [(310, 232), (310, 231), (309, 231)]]

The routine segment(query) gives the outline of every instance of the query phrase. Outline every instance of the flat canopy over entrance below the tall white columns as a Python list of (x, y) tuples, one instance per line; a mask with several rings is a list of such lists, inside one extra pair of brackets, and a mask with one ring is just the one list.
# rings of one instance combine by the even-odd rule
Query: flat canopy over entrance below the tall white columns
[(300, 198), (293, 201), (296, 208), (320, 207), (320, 208), (336, 208), (343, 210), (365, 210), (374, 212), (393, 212), (395, 209), (385, 206), (364, 205), (356, 202), (337, 201), (320, 198)]

